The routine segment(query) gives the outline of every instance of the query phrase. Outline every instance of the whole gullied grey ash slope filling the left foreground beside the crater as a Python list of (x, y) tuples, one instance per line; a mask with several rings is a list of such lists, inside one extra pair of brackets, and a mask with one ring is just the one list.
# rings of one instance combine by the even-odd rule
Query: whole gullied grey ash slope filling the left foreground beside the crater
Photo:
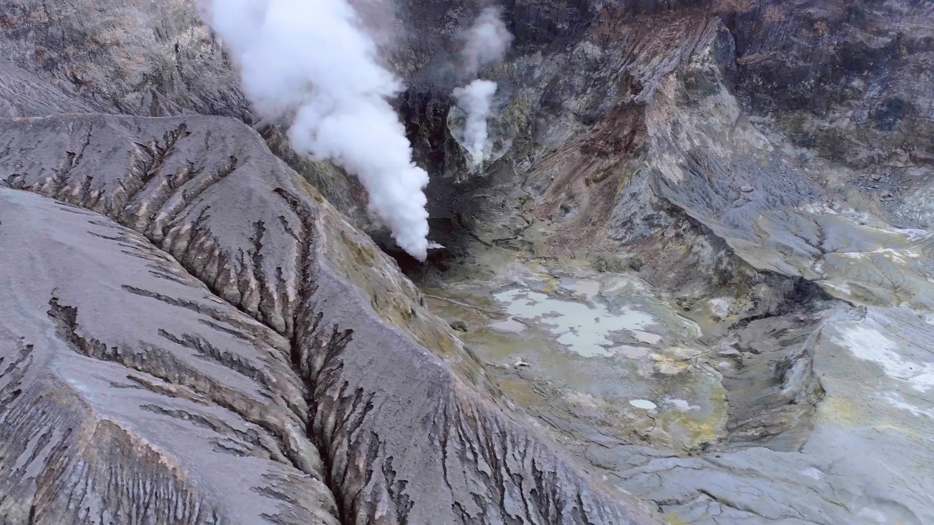
[[(105, 403), (112, 411), (92, 408), (95, 419), (85, 426), (111, 429), (126, 421), (121, 439), (140, 444), (141, 450), (162, 451), (162, 440), (172, 439), (173, 434), (153, 433), (153, 421), (196, 429), (184, 439), (205, 449), (197, 461), (188, 460), (194, 448), (161, 452), (175, 469), (172, 475), (160, 474), (160, 483), (172, 487), (157, 490), (162, 508), (175, 509), (182, 504), (179, 498), (191, 494), (191, 508), (200, 509), (196, 503), (201, 500), (195, 498), (204, 498), (219, 516), (243, 522), (251, 522), (248, 515), (237, 514), (228, 500), (215, 497), (230, 490), (224, 471), (211, 466), (220, 461), (218, 454), (265, 458), (263, 468), (273, 474), (250, 481), (256, 490), (246, 484), (236, 490), (248, 498), (261, 497), (258, 493), (290, 504), (279, 511), (287, 518), (276, 518), (266, 510), (271, 504), (260, 500), (253, 512), (274, 522), (312, 515), (326, 522), (335, 514), (342, 522), (361, 524), (653, 522), (644, 504), (588, 477), (547, 438), (530, 430), (526, 417), (499, 399), (495, 381), (446, 323), (424, 308), (420, 292), (395, 264), (242, 123), (105, 115), (20, 119), (0, 123), (0, 144), (5, 145), (0, 180), (10, 188), (4, 190), (4, 206), (13, 206), (7, 214), (17, 220), (35, 213), (63, 221), (74, 211), (79, 220), (69, 230), (74, 232), (71, 242), (80, 244), (89, 261), (66, 256), (64, 248), (55, 248), (64, 250), (59, 256), (35, 243), (26, 247), (29, 232), (39, 238), (52, 235), (42, 242), (57, 247), (54, 235), (66, 233), (51, 225), (18, 234), (19, 240), (10, 244), (18, 248), (4, 250), (7, 257), (22, 259), (5, 268), (18, 268), (16, 264), (32, 261), (35, 254), (69, 265), (50, 277), (30, 278), (25, 270), (22, 277), (8, 274), (15, 276), (9, 277), (13, 284), (24, 282), (11, 284), (14, 296), (17, 287), (37, 287), (27, 294), (29, 315), (49, 328), (25, 332), (40, 320), (18, 328), (15, 319), (26, 314), (15, 303), (5, 303), (13, 311), (5, 325), (4, 358), (17, 363), (10, 365), (7, 390), (16, 393), (8, 394), (15, 399), (4, 404), (0, 417), (28, 410), (25, 400), (43, 395), (43, 389), (65, 389), (63, 404), (86, 398), (85, 404)], [(89, 212), (14, 190), (100, 216), (95, 220)], [(16, 227), (16, 220), (10, 221)], [(92, 222), (96, 228), (86, 226)], [(6, 229), (7, 220), (0, 227)], [(81, 233), (85, 228), (91, 233)], [(81, 241), (86, 236), (89, 241)], [(108, 272), (108, 263), (122, 259), (106, 259), (107, 250), (141, 261), (126, 264), (120, 270), (125, 273)], [(82, 269), (83, 264), (93, 270)], [(69, 274), (83, 278), (89, 271), (96, 272), (89, 278), (100, 281), (94, 286), (116, 294), (114, 299), (102, 303), (98, 295), (80, 297), (81, 290), (91, 290), (83, 281), (56, 280)], [(103, 307), (111, 304), (120, 312)], [(92, 362), (107, 372), (98, 373), (99, 379), (86, 387), (66, 379), (48, 386), (35, 379), (50, 373), (29, 361), (33, 352), (48, 356), (44, 359), (50, 363), (64, 360), (56, 357), (64, 352), (67, 359)], [(23, 369), (27, 362), (29, 368)], [(104, 401), (115, 395), (112, 389), (128, 385), (155, 393), (113, 406)], [(175, 401), (177, 397), (186, 402)], [(191, 406), (199, 402), (206, 408)], [(72, 425), (83, 421), (79, 412), (52, 405), (47, 412), (74, 421)], [(110, 413), (114, 415), (104, 416)], [(144, 420), (145, 425), (137, 422)], [(263, 433), (250, 433), (250, 425)], [(50, 428), (52, 433), (66, 432), (57, 424)], [(9, 433), (5, 443), (29, 443), (21, 436), (32, 427), (4, 429)], [(77, 442), (64, 443), (82, 450), (75, 435)], [(240, 443), (248, 435), (256, 437)], [(273, 438), (277, 449), (269, 448)], [(102, 457), (92, 448), (86, 453), (97, 454), (94, 468), (102, 472), (115, 468), (106, 461), (123, 464), (126, 457), (133, 465), (128, 476), (149, 473), (146, 461), (158, 457), (146, 452), (130, 456), (122, 450)], [(2, 456), (9, 465), (3, 469), (6, 482), (17, 493), (58, 493), (55, 482), (85, 487), (92, 479), (21, 468), (30, 454), (23, 450)], [(281, 466), (270, 465), (272, 461)], [(179, 481), (188, 478), (199, 482), (191, 482), (190, 492)], [(333, 500), (319, 482), (332, 491)], [(122, 486), (113, 482), (105, 489), (95, 483), (89, 490), (95, 495), (88, 496), (98, 498), (95, 516), (122, 512), (122, 505), (145, 505), (146, 494), (98, 497)], [(224, 497), (239, 498), (237, 493)], [(36, 498), (34, 514), (78, 519), (67, 514), (72, 508), (67, 501)], [(27, 520), (28, 511), (23, 515), (21, 506), (11, 508), (11, 522)]]

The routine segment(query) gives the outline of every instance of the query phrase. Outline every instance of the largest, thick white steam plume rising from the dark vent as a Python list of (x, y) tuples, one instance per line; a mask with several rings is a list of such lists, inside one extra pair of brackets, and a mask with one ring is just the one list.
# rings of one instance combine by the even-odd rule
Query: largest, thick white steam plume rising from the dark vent
[(293, 115), (292, 149), (360, 178), (370, 210), (424, 261), (428, 174), (388, 99), (403, 91), (346, 0), (214, 0), (214, 29), (236, 56), (264, 118)]

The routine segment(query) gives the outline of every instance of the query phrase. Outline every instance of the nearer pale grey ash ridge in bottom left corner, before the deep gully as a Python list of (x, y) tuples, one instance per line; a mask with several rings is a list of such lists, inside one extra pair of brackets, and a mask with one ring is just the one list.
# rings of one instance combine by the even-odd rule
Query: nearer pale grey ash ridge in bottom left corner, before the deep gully
[(289, 341), (143, 235), (0, 189), (0, 520), (336, 524)]

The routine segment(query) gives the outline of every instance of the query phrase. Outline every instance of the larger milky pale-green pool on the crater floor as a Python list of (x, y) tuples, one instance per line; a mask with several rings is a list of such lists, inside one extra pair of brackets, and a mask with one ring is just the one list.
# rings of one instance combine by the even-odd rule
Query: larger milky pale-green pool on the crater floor
[[(562, 283), (562, 286), (587, 298), (593, 298), (600, 292), (600, 282), (592, 280), (575, 280)], [(619, 343), (614, 340), (614, 333), (621, 330), (629, 332), (635, 340), (650, 345), (661, 341), (660, 335), (644, 331), (644, 328), (655, 323), (655, 319), (628, 306), (614, 314), (600, 302), (587, 305), (520, 289), (500, 291), (494, 293), (493, 297), (506, 305), (510, 318), (493, 323), (492, 328), (519, 333), (526, 328), (526, 323), (519, 319), (537, 321), (549, 333), (557, 336), (561, 345), (582, 356), (613, 355), (612, 347)]]

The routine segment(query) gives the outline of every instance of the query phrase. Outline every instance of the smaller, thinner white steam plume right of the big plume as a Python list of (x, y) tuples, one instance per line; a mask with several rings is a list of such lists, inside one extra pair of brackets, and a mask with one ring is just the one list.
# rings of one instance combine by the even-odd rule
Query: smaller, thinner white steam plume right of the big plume
[[(500, 11), (499, 7), (486, 7), (464, 34), (466, 42), (460, 54), (464, 69), (471, 77), (476, 77), (481, 67), (501, 61), (513, 41), (513, 35), (500, 20)], [(496, 82), (478, 78), (454, 90), (458, 107), (467, 114), (464, 125), (465, 148), (475, 166), (483, 163), (485, 157), (487, 119), (496, 88)]]

